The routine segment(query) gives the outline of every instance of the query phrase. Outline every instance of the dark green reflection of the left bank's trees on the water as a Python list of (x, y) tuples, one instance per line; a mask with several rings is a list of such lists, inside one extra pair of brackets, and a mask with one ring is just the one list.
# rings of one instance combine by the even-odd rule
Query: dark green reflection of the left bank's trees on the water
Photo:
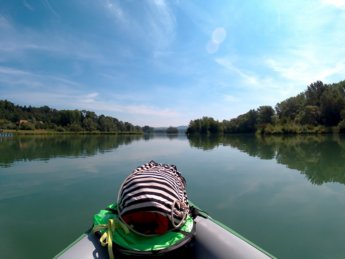
[(0, 167), (15, 161), (49, 160), (55, 157), (94, 156), (142, 139), (140, 135), (21, 136), (2, 138)]

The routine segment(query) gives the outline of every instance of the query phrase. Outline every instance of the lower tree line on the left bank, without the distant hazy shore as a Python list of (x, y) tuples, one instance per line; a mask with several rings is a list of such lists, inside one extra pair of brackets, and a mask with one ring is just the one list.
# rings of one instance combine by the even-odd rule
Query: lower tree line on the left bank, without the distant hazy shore
[(10, 130), (54, 130), (58, 132), (142, 133), (140, 126), (86, 110), (56, 110), (48, 106), (15, 105), (0, 100), (0, 128)]

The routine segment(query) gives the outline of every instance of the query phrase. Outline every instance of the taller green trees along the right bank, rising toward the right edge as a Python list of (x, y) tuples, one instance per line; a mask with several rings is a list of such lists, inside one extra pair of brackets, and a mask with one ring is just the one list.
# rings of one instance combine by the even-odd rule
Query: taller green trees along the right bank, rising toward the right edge
[(230, 120), (212, 117), (192, 120), (187, 134), (295, 134), (345, 133), (345, 81), (324, 84), (316, 81), (297, 96), (273, 108), (260, 106)]

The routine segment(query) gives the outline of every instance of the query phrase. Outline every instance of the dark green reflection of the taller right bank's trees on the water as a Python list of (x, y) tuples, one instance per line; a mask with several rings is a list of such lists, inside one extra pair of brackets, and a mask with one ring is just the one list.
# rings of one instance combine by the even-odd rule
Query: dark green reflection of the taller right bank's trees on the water
[(230, 146), (260, 159), (275, 159), (300, 171), (313, 184), (345, 184), (344, 136), (194, 136), (189, 143), (203, 150)]

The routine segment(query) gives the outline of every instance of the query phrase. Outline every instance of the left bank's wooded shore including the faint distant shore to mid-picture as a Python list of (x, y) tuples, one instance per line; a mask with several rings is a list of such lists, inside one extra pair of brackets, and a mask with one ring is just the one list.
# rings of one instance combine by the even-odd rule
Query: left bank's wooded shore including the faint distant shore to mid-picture
[(56, 110), (48, 106), (19, 106), (0, 100), (0, 134), (16, 135), (142, 135), (178, 134), (185, 128), (136, 126), (116, 118), (86, 110)]

